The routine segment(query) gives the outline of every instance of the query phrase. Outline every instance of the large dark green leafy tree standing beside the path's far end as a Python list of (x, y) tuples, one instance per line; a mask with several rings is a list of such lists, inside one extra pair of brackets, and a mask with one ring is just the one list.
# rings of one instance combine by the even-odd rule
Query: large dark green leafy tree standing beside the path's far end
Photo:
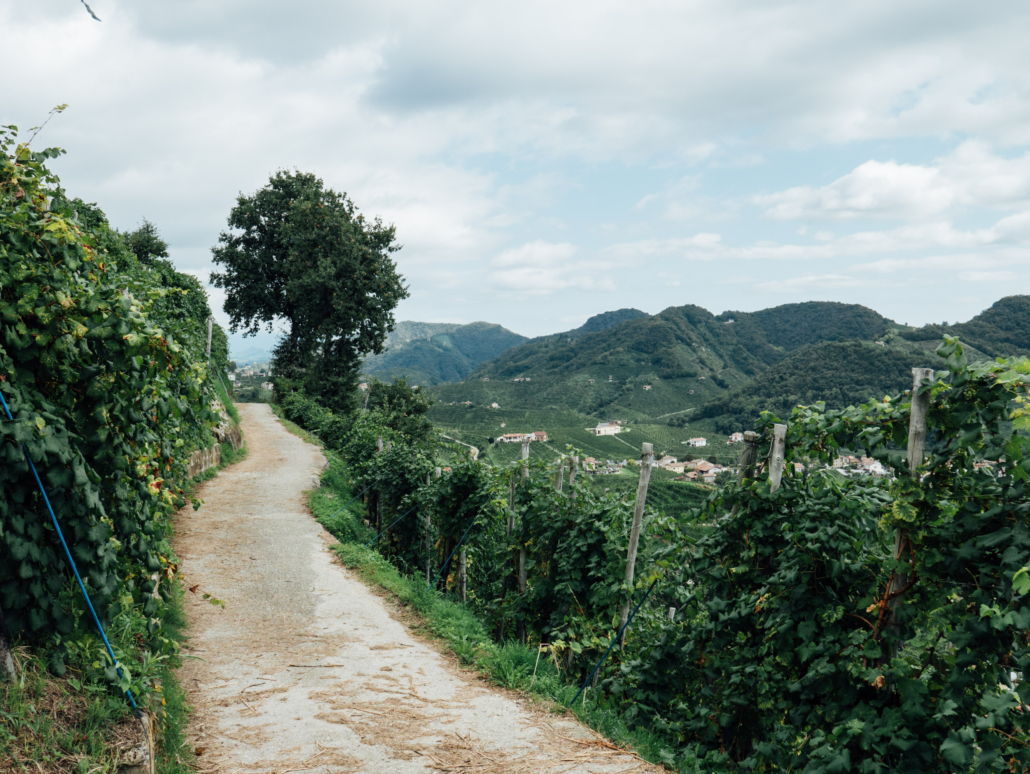
[(276, 172), (241, 195), (218, 237), (211, 281), (228, 292), (234, 332), (277, 319), (276, 376), (300, 381), (336, 410), (351, 408), (362, 358), (383, 351), (392, 311), (408, 296), (390, 255), (392, 226), (368, 221), (315, 175)]

